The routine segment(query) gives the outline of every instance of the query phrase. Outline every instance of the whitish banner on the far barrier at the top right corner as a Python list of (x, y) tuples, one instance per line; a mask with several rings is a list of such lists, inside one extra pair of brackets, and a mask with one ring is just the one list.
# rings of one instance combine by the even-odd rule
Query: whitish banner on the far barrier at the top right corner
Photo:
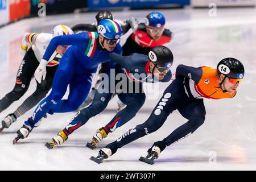
[(208, 7), (210, 3), (215, 3), (217, 7), (255, 6), (256, 0), (191, 0), (193, 7)]

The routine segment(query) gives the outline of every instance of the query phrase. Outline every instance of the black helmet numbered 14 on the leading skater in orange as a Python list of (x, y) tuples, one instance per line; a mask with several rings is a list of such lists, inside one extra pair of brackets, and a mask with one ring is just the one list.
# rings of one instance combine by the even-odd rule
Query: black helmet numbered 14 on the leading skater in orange
[(222, 59), (217, 65), (217, 70), (229, 78), (242, 79), (245, 75), (243, 64), (233, 57)]

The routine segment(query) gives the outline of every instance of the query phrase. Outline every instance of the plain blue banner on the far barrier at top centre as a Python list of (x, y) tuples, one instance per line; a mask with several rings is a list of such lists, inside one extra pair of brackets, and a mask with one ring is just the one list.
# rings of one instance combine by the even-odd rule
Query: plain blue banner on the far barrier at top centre
[(88, 1), (89, 10), (104, 8), (130, 7), (133, 9), (152, 8), (163, 6), (185, 6), (190, 5), (190, 0), (91, 0)]

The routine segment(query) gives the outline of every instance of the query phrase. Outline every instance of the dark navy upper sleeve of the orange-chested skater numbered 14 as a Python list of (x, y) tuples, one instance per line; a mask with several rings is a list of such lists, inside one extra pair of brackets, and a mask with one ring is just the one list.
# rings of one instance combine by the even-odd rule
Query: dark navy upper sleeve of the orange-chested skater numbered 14
[(203, 75), (203, 69), (201, 67), (188, 67), (186, 65), (180, 64), (176, 68), (176, 77), (177, 76), (185, 76), (191, 78), (197, 84), (199, 83), (201, 77)]

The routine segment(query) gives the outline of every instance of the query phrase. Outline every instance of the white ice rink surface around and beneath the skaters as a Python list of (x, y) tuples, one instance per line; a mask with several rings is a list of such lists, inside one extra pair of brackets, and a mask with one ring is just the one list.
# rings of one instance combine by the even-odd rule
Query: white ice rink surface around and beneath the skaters
[[(152, 143), (167, 137), (176, 127), (186, 122), (175, 111), (155, 133), (138, 139), (118, 150), (102, 164), (89, 160), (98, 150), (113, 142), (126, 130), (146, 121), (168, 83), (160, 84), (156, 97), (146, 100), (141, 111), (126, 125), (110, 133), (96, 150), (85, 147), (94, 132), (112, 119), (117, 109), (117, 98), (107, 109), (93, 117), (69, 136), (63, 146), (48, 150), (44, 146), (63, 129), (76, 113), (49, 115), (29, 137), (13, 145), (16, 131), (34, 109), (23, 115), (9, 129), (0, 134), (1, 170), (251, 170), (256, 169), (256, 9), (217, 9), (217, 16), (209, 16), (208, 9), (159, 10), (166, 17), (166, 28), (174, 32), (167, 47), (174, 53), (172, 72), (178, 64), (216, 67), (224, 57), (236, 57), (245, 66), (245, 78), (237, 96), (229, 100), (204, 100), (207, 109), (205, 123), (188, 138), (167, 147), (156, 163), (150, 166), (139, 162)], [(134, 16), (141, 22), (148, 10), (114, 11), (114, 18), (125, 20)], [(20, 41), (26, 32), (52, 32), (57, 24), (73, 26), (91, 23), (96, 13), (65, 14), (44, 18), (24, 19), (0, 28), (0, 97), (13, 89), (16, 72), (22, 61)], [(30, 89), (8, 109), (0, 113), (2, 119), (18, 107)], [(150, 97), (151, 98), (151, 97)]]

